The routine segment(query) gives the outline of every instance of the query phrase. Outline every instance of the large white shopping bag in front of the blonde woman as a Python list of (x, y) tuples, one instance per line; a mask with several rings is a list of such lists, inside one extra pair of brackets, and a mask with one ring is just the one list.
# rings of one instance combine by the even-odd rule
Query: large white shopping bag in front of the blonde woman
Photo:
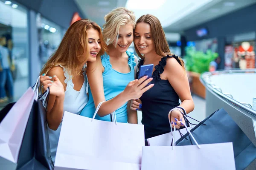
[(55, 170), (140, 170), (144, 126), (94, 117), (64, 113)]

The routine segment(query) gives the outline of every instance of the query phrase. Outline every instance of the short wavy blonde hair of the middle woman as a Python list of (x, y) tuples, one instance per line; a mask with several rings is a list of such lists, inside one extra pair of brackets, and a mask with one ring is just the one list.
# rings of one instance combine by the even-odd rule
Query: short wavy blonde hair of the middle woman
[[(118, 39), (119, 28), (125, 24), (131, 24), (135, 27), (135, 15), (133, 11), (125, 7), (117, 7), (108, 13), (103, 25), (103, 37), (107, 45), (113, 44)], [(116, 47), (116, 44), (114, 45)]]

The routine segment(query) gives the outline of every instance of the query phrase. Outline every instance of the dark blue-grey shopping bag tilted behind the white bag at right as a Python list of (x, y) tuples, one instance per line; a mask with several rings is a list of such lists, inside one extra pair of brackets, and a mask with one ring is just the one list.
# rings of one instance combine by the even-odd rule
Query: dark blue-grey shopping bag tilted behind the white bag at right
[[(256, 159), (256, 146), (223, 108), (212, 113), (190, 132), (198, 144), (233, 142), (236, 170), (244, 170)], [(176, 146), (190, 145), (191, 140), (185, 139), (187, 136), (189, 133), (181, 137)]]

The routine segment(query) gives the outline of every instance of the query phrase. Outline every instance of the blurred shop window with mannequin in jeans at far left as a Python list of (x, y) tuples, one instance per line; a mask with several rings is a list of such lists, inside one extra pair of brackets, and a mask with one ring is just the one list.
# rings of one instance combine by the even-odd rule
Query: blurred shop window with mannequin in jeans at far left
[(0, 108), (29, 87), (27, 18), (20, 4), (0, 0)]

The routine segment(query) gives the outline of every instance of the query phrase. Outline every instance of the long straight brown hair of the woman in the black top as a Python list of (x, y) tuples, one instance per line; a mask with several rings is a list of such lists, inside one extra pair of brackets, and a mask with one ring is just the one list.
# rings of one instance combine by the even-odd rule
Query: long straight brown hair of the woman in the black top
[[(150, 25), (151, 37), (153, 39), (155, 51), (156, 51), (157, 55), (163, 56), (163, 57), (167, 56), (167, 55), (169, 55), (169, 56), (174, 55), (170, 51), (168, 42), (166, 40), (164, 31), (163, 31), (163, 27), (161, 26), (161, 23), (157, 19), (157, 17), (155, 17), (154, 15), (151, 15), (151, 14), (146, 14), (146, 15), (141, 16), (137, 20), (135, 28), (138, 23), (147, 23)], [(136, 47), (135, 43), (134, 43), (134, 48), (135, 48), (135, 51), (137, 52), (138, 56), (140, 58), (144, 59), (145, 57), (142, 54), (140, 54), (140, 51)], [(178, 57), (177, 59), (180, 61), (181, 66), (183, 68), (185, 68), (183, 59), (181, 59), (180, 57)]]

